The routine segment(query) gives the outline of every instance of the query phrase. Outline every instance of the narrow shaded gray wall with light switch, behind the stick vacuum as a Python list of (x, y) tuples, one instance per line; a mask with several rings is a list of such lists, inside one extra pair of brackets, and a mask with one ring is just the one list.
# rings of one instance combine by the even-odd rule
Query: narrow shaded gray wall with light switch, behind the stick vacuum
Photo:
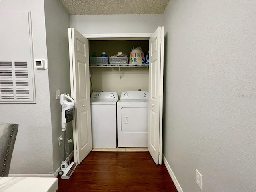
[[(70, 69), (68, 51), (69, 14), (58, 0), (44, 0), (47, 56), (49, 64), (50, 104), (52, 118), (53, 168), (56, 171), (62, 162), (62, 145), (58, 137), (62, 135), (60, 99), (56, 100), (56, 90), (60, 94), (70, 94)], [(66, 137), (72, 138), (72, 123), (68, 123)], [(68, 148), (67, 148), (68, 149)], [(73, 142), (69, 143), (69, 152)]]

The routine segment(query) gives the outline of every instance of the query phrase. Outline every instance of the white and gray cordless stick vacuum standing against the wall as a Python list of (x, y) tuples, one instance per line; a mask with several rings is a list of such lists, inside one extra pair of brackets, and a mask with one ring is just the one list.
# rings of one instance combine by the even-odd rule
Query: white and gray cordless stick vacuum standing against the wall
[[(71, 102), (67, 101), (70, 100)], [(74, 100), (64, 93), (60, 95), (60, 104), (61, 104), (61, 128), (62, 128), (62, 140), (63, 140), (63, 155), (62, 155), (62, 164), (60, 168), (59, 175), (62, 179), (69, 179), (74, 170), (76, 169), (77, 163), (72, 162), (68, 165), (66, 157), (66, 127), (67, 123), (72, 121), (74, 118)]]

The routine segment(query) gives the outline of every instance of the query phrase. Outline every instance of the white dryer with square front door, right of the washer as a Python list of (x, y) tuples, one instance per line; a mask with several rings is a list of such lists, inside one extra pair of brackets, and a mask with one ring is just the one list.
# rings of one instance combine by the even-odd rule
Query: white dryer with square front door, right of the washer
[(118, 147), (148, 147), (148, 92), (125, 91), (117, 102)]

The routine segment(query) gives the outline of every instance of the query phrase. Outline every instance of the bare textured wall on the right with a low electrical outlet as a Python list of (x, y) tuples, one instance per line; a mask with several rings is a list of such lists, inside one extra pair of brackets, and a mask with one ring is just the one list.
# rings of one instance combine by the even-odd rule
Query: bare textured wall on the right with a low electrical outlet
[[(164, 150), (184, 192), (256, 191), (256, 1), (171, 0)], [(249, 96), (251, 95), (251, 97)]]

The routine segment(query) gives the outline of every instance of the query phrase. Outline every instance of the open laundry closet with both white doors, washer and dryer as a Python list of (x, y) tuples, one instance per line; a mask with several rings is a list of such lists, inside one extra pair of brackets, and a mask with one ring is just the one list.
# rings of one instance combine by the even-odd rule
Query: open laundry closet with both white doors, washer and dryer
[[(148, 148), (156, 164), (162, 163), (161, 36), (163, 27), (154, 34), (80, 34), (69, 28), (76, 162), (92, 148), (130, 147)], [(135, 65), (91, 62), (95, 53), (110, 57), (122, 52), (129, 57), (132, 47), (141, 47), (145, 58), (149, 52), (154, 60)]]

